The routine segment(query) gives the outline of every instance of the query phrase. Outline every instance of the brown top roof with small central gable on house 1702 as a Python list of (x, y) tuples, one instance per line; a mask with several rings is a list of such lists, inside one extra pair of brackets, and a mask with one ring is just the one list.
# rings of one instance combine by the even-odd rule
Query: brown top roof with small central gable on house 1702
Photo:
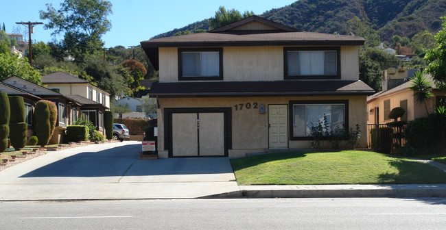
[[(234, 30), (248, 23), (263, 23), (272, 29)], [(155, 70), (159, 70), (159, 47), (246, 47), (246, 46), (299, 46), (299, 45), (362, 45), (361, 37), (302, 32), (259, 16), (244, 18), (209, 32), (157, 38), (141, 42)]]

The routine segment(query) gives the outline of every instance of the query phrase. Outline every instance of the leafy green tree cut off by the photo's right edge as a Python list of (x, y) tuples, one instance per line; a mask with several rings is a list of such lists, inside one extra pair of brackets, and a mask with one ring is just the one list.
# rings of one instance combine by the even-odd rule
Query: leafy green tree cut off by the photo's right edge
[(427, 73), (432, 75), (440, 90), (446, 90), (446, 17), (443, 19), (443, 29), (435, 36), (436, 47), (426, 52), (424, 59), (429, 63)]

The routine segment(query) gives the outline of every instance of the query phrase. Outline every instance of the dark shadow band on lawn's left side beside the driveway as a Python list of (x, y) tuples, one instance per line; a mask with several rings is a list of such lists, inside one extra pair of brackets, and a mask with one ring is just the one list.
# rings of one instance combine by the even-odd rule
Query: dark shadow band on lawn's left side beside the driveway
[(257, 166), (259, 164), (263, 164), (266, 162), (274, 162), (282, 159), (292, 159), (297, 157), (305, 157), (307, 154), (312, 154), (316, 152), (312, 151), (296, 151), (296, 152), (287, 152), (287, 153), (268, 153), (262, 155), (254, 155), (250, 157), (244, 158), (234, 158), (231, 159), (231, 164), (233, 166), (233, 170), (240, 170), (243, 168), (250, 168), (253, 166)]

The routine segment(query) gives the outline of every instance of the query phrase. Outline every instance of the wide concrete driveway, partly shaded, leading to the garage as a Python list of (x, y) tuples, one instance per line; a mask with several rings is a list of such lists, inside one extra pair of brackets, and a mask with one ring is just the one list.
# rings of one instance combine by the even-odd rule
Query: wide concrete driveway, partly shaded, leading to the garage
[(193, 198), (239, 190), (228, 158), (138, 160), (141, 142), (49, 152), (0, 171), (0, 200)]

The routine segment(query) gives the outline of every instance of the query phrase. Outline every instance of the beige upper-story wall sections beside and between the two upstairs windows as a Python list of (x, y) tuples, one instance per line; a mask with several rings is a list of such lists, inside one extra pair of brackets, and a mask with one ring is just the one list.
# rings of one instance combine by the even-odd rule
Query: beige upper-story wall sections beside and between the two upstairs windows
[[(341, 46), (341, 78), (359, 78), (357, 46)], [(177, 48), (159, 48), (160, 82), (178, 81)], [(223, 47), (224, 81), (283, 80), (283, 47)]]

